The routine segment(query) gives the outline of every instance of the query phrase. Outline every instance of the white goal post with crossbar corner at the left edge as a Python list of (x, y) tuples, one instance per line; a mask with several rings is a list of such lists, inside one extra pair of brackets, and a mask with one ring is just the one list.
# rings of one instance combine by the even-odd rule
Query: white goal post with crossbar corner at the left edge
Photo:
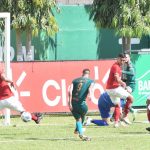
[[(12, 78), (11, 68), (10, 68), (10, 13), (1, 12), (0, 18), (4, 19), (4, 69), (5, 75), (8, 78)], [(4, 110), (4, 125), (10, 125), (10, 109)]]

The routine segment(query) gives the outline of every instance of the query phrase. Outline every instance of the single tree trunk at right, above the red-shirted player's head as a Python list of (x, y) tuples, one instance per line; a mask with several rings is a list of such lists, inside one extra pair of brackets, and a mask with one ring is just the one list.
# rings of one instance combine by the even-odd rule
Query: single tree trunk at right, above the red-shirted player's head
[(123, 52), (131, 52), (131, 38), (130, 37), (122, 37), (122, 50)]

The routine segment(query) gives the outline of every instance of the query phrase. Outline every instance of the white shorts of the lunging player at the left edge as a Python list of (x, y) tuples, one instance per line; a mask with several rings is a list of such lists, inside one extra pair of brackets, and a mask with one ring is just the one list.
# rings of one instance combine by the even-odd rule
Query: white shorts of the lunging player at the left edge
[(0, 100), (0, 110), (4, 108), (9, 108), (18, 112), (25, 111), (21, 102), (15, 96), (11, 96), (7, 99)]

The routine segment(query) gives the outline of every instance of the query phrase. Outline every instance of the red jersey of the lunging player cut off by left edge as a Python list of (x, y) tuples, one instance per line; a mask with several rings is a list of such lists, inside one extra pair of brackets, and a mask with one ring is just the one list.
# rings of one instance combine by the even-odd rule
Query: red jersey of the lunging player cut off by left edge
[(0, 71), (0, 100), (13, 96), (13, 93), (8, 83), (1, 79), (2, 72)]

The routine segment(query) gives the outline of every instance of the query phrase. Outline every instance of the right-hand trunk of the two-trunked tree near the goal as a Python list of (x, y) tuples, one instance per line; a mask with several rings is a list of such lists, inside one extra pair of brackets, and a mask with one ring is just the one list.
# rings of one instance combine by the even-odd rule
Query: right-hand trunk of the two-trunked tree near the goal
[(32, 49), (31, 49), (31, 45), (32, 45), (32, 31), (30, 28), (27, 28), (26, 29), (26, 60), (27, 61), (31, 61), (33, 60), (33, 57), (32, 57)]

